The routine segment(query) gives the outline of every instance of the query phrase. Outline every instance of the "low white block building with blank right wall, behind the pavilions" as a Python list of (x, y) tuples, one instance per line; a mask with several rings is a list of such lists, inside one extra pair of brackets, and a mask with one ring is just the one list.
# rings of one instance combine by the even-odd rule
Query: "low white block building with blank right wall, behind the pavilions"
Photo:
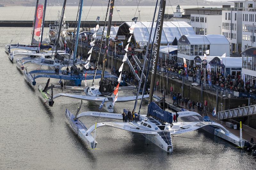
[(196, 34), (221, 34), (221, 15), (219, 14), (191, 14), (191, 26)]

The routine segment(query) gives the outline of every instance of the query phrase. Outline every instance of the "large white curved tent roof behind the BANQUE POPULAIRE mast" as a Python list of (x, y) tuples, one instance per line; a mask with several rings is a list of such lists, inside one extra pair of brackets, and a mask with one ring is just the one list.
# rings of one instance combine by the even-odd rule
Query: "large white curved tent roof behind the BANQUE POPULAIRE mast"
[[(133, 37), (135, 41), (137, 42), (148, 42), (149, 39), (149, 33), (151, 31), (151, 24), (152, 22), (140, 22), (137, 21), (136, 25), (134, 22), (124, 22), (122, 25), (119, 26), (118, 35), (121, 32), (127, 32), (127, 27), (134, 26), (133, 30)], [(125, 30), (120, 30), (120, 28)], [(153, 25), (153, 32), (156, 29), (156, 22), (154, 22)], [(164, 21), (163, 24), (163, 31), (162, 31), (162, 37), (161, 37), (161, 43), (167, 44), (171, 43), (175, 37), (179, 39), (181, 35), (184, 34), (196, 34), (193, 27), (187, 24), (184, 21)], [(153, 36), (151, 36), (150, 41), (153, 41)]]

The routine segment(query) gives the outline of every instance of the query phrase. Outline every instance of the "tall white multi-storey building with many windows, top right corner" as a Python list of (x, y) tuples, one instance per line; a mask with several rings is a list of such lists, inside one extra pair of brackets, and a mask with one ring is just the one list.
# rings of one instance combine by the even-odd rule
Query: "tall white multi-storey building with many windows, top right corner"
[(222, 11), (222, 35), (230, 43), (231, 54), (255, 47), (256, 1), (234, 1), (234, 7)]

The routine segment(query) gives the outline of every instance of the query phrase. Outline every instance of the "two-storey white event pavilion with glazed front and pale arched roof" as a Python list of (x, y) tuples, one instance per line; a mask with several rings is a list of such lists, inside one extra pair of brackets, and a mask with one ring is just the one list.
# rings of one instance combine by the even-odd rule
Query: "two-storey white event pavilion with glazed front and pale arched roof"
[(229, 57), (229, 42), (223, 35), (182, 35), (178, 41), (178, 63), (183, 63), (183, 57), (192, 65), (196, 56), (204, 56), (209, 50), (210, 56)]

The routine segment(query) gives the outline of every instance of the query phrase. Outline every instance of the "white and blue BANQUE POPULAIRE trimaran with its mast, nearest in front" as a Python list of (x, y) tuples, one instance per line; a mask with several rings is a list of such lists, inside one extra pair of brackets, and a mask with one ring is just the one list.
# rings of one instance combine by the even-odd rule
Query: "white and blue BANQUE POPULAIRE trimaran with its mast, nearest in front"
[[(83, 0), (81, 0), (83, 2)], [(158, 2), (158, 1), (157, 1)], [(157, 7), (156, 2), (156, 7)], [(111, 119), (118, 119), (122, 120), (123, 117), (121, 114), (116, 113), (104, 113), (104, 112), (83, 112), (79, 113), (81, 105), (77, 110), (77, 113), (73, 115), (68, 109), (66, 109), (66, 117), (68, 122), (74, 129), (74, 131), (92, 148), (95, 149), (97, 146), (97, 142), (95, 140), (96, 137), (96, 129), (102, 126), (110, 126), (115, 127), (118, 129), (127, 130), (130, 132), (140, 133), (148, 140), (159, 146), (166, 152), (173, 151), (173, 143), (171, 135), (174, 134), (181, 134), (187, 133), (202, 127), (211, 126), (216, 129), (220, 129), (220, 134), (224, 136), (223, 138), (236, 144), (237, 146), (243, 147), (244, 140), (242, 137), (236, 137), (232, 133), (230, 133), (227, 129), (225, 129), (222, 125), (215, 123), (215, 122), (172, 122), (172, 114), (169, 112), (165, 112), (162, 109), (158, 108), (154, 102), (152, 102), (153, 98), (153, 91), (156, 79), (156, 68), (158, 62), (158, 52), (160, 47), (161, 41), (161, 34), (162, 34), (162, 25), (164, 20), (164, 11), (165, 11), (165, 3), (166, 0), (160, 1), (160, 7), (158, 12), (157, 24), (156, 24), (156, 38), (154, 40), (153, 48), (153, 64), (152, 64), (152, 78), (151, 78), (151, 88), (149, 94), (149, 105), (148, 105), (148, 113), (147, 114), (140, 114), (138, 122), (101, 122), (95, 123), (95, 125), (91, 126), (90, 128), (86, 128), (83, 122), (79, 120), (80, 117), (83, 116), (97, 116), (97, 117), (105, 117)], [(114, 6), (114, 0), (111, 0), (110, 9)], [(155, 9), (156, 11), (156, 9)], [(112, 14), (112, 12), (111, 12)], [(150, 38), (149, 38), (150, 40)], [(150, 55), (151, 57), (151, 55)], [(147, 78), (146, 78), (147, 79)], [(145, 86), (144, 86), (145, 88)], [(199, 114), (195, 112), (178, 112), (179, 118), (184, 118), (188, 120), (189, 117), (194, 118)], [(192, 120), (192, 119), (191, 119)], [(195, 119), (194, 119), (195, 120)], [(192, 120), (193, 121), (193, 120)], [(92, 132), (94, 132), (94, 137), (92, 136)]]

